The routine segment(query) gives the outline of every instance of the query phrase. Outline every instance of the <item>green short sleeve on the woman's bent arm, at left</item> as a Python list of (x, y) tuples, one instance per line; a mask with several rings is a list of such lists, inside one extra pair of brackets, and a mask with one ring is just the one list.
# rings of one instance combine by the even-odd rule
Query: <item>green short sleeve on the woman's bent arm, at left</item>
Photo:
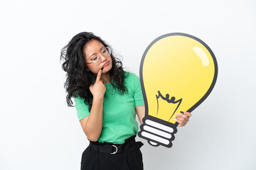
[(75, 108), (77, 111), (78, 119), (80, 121), (82, 118), (85, 118), (88, 115), (90, 115), (90, 112), (88, 109), (89, 106), (87, 106), (84, 103), (85, 98), (75, 97), (74, 99), (75, 99)]

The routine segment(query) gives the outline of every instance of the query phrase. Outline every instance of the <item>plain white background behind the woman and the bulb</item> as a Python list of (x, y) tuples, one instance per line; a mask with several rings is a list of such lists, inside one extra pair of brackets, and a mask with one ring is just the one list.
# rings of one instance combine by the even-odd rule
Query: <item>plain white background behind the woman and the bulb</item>
[(247, 1), (0, 1), (0, 169), (80, 169), (88, 145), (65, 103), (60, 49), (91, 31), (139, 75), (147, 45), (194, 35), (218, 79), (170, 149), (142, 147), (144, 169), (256, 169), (256, 3)]

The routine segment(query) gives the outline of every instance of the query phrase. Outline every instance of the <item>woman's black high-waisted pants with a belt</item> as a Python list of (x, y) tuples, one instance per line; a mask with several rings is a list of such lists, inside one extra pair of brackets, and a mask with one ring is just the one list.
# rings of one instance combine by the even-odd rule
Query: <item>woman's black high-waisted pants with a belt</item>
[(142, 170), (142, 142), (135, 142), (136, 135), (124, 144), (90, 142), (82, 153), (81, 170)]

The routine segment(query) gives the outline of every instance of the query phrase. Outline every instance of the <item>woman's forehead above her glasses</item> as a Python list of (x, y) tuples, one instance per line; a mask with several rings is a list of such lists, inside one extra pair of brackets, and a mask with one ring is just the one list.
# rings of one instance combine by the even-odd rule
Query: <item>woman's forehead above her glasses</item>
[(83, 52), (85, 53), (85, 56), (92, 55), (95, 52), (99, 52), (102, 47), (104, 47), (104, 45), (102, 45), (101, 42), (92, 39), (85, 44)]

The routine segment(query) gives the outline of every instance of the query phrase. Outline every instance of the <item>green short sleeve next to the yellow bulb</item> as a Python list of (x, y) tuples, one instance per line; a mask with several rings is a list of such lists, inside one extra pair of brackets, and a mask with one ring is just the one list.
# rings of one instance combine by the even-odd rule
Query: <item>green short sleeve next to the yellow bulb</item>
[(136, 74), (134, 74), (134, 102), (135, 106), (144, 106), (142, 86)]

